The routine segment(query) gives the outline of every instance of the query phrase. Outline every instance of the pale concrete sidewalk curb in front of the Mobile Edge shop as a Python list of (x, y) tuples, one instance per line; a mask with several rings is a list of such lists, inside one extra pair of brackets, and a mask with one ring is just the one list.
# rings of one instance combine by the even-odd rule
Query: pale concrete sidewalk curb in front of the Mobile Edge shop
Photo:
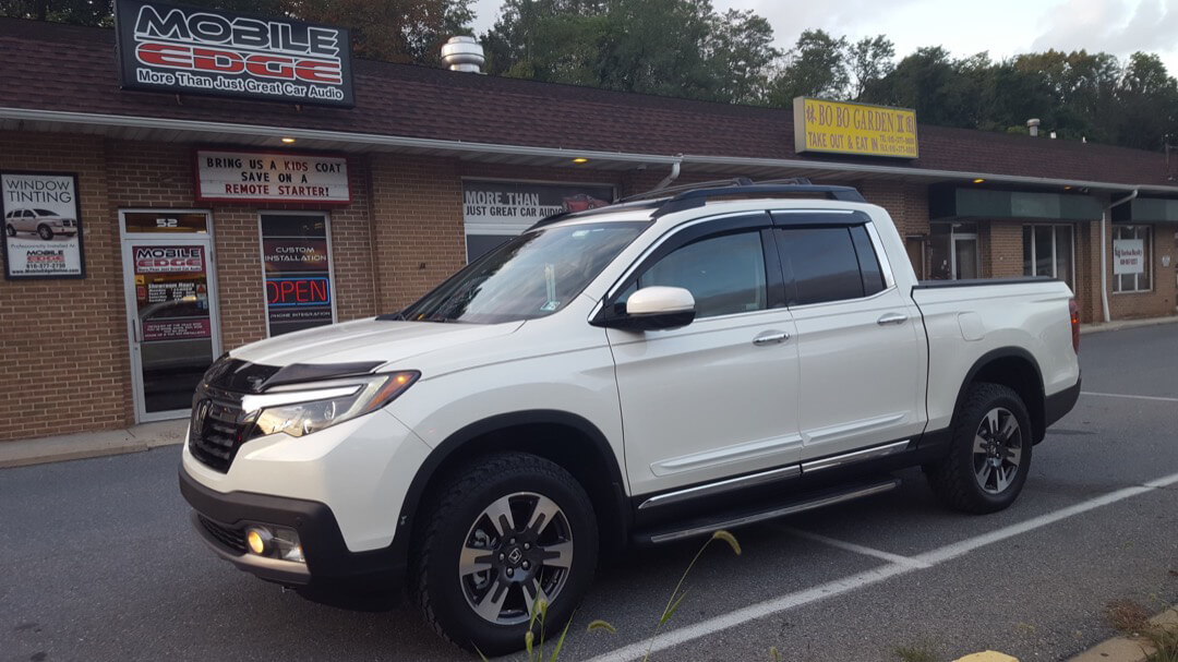
[(85, 459), (125, 452), (141, 452), (184, 442), (187, 419), (144, 423), (124, 430), (102, 430), (0, 442), (0, 469), (46, 462)]

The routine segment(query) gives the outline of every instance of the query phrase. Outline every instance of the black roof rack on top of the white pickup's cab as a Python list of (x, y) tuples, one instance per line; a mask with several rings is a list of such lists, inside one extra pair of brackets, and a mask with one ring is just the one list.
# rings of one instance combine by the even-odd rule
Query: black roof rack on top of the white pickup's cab
[[(573, 217), (585, 217), (597, 213), (608, 213), (627, 208), (650, 208), (656, 207), (650, 214), (651, 219), (667, 216), (673, 212), (702, 207), (712, 198), (757, 198), (766, 196), (796, 196), (818, 194), (830, 200), (842, 200), (845, 203), (866, 203), (862, 194), (854, 186), (828, 186), (810, 184), (803, 177), (790, 179), (768, 179), (765, 181), (753, 181), (746, 177), (734, 177), (732, 179), (719, 179), (714, 181), (697, 181), (695, 184), (683, 184), (667, 188), (655, 188), (646, 193), (627, 196), (616, 200), (613, 205), (587, 210), (583, 212), (561, 212), (536, 221), (531, 227), (543, 227), (560, 220)], [(530, 230), (530, 229), (529, 229)]]

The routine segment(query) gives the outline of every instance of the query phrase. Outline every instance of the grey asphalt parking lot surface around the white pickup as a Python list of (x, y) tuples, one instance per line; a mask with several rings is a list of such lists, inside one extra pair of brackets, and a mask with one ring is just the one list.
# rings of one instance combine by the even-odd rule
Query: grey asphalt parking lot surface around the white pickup
[[(562, 660), (1061, 660), (1114, 600), (1178, 602), (1178, 325), (1083, 338), (1084, 393), (1011, 509), (962, 516), (916, 472), (872, 499), (735, 531), (650, 642), (699, 544), (602, 569)], [(469, 660), (403, 601), (316, 604), (213, 557), (177, 446), (0, 470), (0, 660)], [(585, 633), (604, 618), (617, 634)]]

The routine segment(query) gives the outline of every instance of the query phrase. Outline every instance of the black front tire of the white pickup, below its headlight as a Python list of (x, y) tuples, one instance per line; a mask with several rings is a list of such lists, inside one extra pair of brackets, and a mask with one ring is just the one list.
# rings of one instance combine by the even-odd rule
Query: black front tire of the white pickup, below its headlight
[[(535, 531), (527, 527), (527, 522), (519, 522), (525, 517), (538, 517), (527, 510), (532, 497), (549, 499), (541, 502), (537, 498), (532, 511), (540, 509), (542, 503), (558, 508), (555, 516), (540, 519)], [(509, 528), (501, 522), (491, 529), (488, 511), (505, 499), (515, 527)], [(489, 455), (451, 474), (424, 504), (418, 522), (423, 529), (421, 535), (415, 536), (418, 544), (411, 560), (413, 574), (410, 589), (413, 598), (425, 621), (439, 635), (468, 650), (496, 656), (522, 649), (528, 633), (525, 596), (537, 600), (535, 587), (543, 589), (545, 582), (555, 590), (550, 596), (544, 630), (555, 638), (593, 581), (597, 564), (597, 522), (593, 503), (568, 471), (535, 455)], [(502, 536), (488, 535), (499, 529), (503, 530)], [(515, 534), (510, 535), (518, 538), (509, 537), (508, 530), (514, 530)], [(570, 551), (568, 568), (549, 565), (563, 563), (563, 557), (537, 562), (555, 554), (545, 551), (552, 550), (551, 545), (565, 544), (557, 535), (562, 531), (573, 543), (568, 548), (562, 547)], [(527, 539), (535, 542), (527, 543)], [(528, 544), (529, 551), (523, 551)], [(475, 565), (487, 564), (490, 569), (463, 575), (461, 560), (464, 547), (487, 549), (485, 556), (472, 560), (478, 561)], [(512, 578), (509, 578), (509, 572)], [(554, 581), (557, 583), (552, 584)], [(484, 600), (489, 595), (501, 595), (496, 591), (499, 583), (511, 588), (503, 594), (502, 607), (491, 609), (498, 615), (498, 621), (491, 622), (476, 613), (475, 601), (483, 605), (479, 590), (485, 591), (482, 594)], [(525, 583), (532, 587), (531, 590), (524, 589)], [(512, 618), (518, 621), (521, 609), (524, 610), (521, 622), (507, 622)], [(538, 637), (540, 633), (536, 631), (535, 636)]]

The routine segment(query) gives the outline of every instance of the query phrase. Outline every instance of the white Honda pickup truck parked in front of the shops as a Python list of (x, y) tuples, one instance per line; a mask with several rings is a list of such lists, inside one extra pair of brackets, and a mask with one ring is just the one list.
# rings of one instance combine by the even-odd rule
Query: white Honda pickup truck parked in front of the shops
[(404, 582), (443, 636), (501, 654), (628, 544), (914, 465), (951, 508), (1006, 508), (1076, 403), (1078, 349), (1065, 284), (918, 283), (853, 188), (662, 191), (542, 221), (399, 313), (233, 350), (180, 488), (238, 568)]

